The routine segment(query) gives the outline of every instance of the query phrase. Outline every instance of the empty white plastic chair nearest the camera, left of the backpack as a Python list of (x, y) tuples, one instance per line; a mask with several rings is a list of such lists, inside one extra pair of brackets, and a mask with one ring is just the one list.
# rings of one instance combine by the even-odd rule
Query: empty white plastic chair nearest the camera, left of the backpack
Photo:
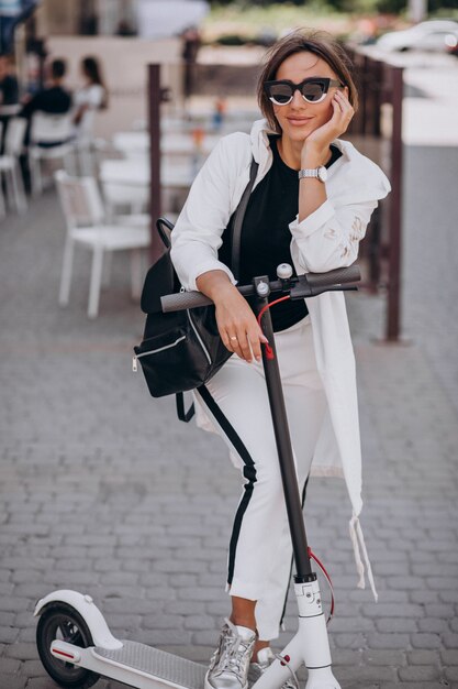
[(149, 218), (132, 223), (107, 225), (105, 210), (93, 177), (70, 177), (65, 171), (55, 174), (57, 190), (67, 223), (67, 239), (59, 289), (59, 304), (67, 306), (70, 295), (75, 244), (92, 251), (88, 316), (97, 318), (102, 285), (103, 255), (112, 251), (131, 250), (132, 296), (139, 297), (142, 288), (142, 249), (149, 245)]

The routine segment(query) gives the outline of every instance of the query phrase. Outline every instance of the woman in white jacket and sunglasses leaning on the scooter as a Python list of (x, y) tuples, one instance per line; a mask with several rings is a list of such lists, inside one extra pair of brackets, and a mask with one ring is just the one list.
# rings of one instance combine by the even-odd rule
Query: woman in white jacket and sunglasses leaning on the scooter
[[(200, 424), (227, 442), (243, 475), (230, 544), (232, 613), (206, 674), (206, 689), (245, 689), (250, 661), (272, 658), (289, 586), (291, 542), (260, 363), (265, 337), (234, 287), (225, 237), (259, 164), (244, 219), (239, 282), (350, 265), (378, 200), (390, 190), (381, 169), (339, 136), (357, 108), (343, 48), (323, 33), (294, 32), (269, 52), (259, 78), (264, 120), (221, 140), (194, 181), (172, 232), (172, 260), (187, 289), (213, 299), (224, 344), (234, 352), (198, 394)], [(361, 458), (355, 362), (342, 293), (272, 308), (273, 329), (299, 483), (310, 472), (343, 475), (353, 506), (350, 533), (365, 586), (358, 515)], [(214, 411), (225, 417), (221, 428)], [(230, 430), (227, 430), (230, 428)], [(238, 436), (244, 451), (234, 449)], [(237, 444), (241, 447), (241, 444)], [(375, 592), (375, 589), (373, 589)], [(376, 594), (376, 592), (375, 592)]]

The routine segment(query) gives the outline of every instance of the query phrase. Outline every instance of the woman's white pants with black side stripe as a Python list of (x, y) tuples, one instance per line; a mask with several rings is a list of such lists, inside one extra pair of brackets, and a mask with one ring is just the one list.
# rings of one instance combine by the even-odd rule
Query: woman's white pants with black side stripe
[[(326, 407), (310, 316), (278, 332), (276, 347), (303, 492)], [(262, 364), (234, 354), (197, 398), (244, 479), (230, 544), (231, 595), (257, 601), (259, 638), (270, 641), (279, 634), (292, 546)]]

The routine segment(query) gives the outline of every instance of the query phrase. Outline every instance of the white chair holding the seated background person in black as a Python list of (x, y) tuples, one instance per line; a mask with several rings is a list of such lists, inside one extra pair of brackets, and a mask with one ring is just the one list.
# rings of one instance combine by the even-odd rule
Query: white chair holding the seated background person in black
[[(35, 112), (31, 123), (31, 142), (29, 146), (29, 164), (32, 175), (32, 194), (36, 196), (43, 192), (42, 161), (60, 160), (67, 172), (75, 168), (74, 125), (71, 114), (51, 114)], [(38, 144), (52, 144), (43, 146)]]

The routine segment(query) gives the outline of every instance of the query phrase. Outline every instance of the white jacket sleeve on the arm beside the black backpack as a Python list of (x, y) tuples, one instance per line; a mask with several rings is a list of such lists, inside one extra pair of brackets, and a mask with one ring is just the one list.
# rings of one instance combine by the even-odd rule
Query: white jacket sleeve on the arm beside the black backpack
[(224, 271), (236, 283), (232, 271), (217, 259), (232, 214), (235, 175), (231, 169), (239, 166), (234, 160), (233, 136), (222, 139), (205, 161), (171, 233), (171, 260), (186, 289), (197, 289), (199, 275), (214, 270)]

